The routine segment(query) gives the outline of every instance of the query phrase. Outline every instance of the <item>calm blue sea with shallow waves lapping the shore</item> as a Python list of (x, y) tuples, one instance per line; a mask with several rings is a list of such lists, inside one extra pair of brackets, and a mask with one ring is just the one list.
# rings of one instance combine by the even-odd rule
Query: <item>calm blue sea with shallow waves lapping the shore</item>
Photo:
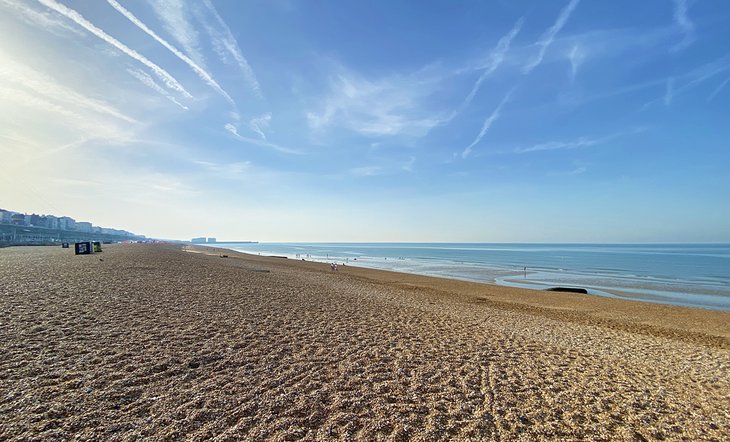
[(511, 287), (730, 311), (730, 244), (217, 243), (284, 256)]

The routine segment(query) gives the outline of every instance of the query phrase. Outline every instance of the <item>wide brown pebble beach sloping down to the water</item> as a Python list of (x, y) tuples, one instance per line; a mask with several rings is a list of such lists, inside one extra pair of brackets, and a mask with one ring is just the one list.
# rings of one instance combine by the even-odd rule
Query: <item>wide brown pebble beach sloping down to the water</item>
[(0, 312), (0, 440), (730, 439), (726, 312), (143, 244)]

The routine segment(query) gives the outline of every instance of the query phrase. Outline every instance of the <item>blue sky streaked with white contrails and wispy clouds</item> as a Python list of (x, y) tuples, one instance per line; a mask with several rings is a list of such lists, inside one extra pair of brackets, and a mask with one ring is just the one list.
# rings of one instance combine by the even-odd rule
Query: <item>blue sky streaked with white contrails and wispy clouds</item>
[(730, 242), (730, 3), (0, 0), (0, 207), (149, 236)]

